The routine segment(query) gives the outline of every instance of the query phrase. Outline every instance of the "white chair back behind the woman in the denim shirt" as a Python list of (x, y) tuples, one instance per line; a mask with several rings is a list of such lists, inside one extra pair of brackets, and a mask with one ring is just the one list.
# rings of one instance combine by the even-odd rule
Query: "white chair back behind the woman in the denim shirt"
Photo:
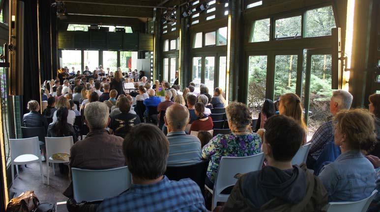
[(356, 202), (330, 202), (325, 207), (326, 212), (366, 212), (378, 190), (372, 191), (371, 196)]

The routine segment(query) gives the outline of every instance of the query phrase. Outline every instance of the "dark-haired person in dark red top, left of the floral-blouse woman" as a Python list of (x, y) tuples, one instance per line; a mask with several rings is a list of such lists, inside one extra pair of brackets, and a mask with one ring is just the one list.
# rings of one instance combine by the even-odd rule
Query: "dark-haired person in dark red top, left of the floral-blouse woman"
[(204, 114), (205, 105), (203, 103), (195, 104), (195, 114), (198, 119), (193, 121), (191, 124), (189, 134), (191, 131), (210, 131), (214, 124), (212, 123), (212, 118)]

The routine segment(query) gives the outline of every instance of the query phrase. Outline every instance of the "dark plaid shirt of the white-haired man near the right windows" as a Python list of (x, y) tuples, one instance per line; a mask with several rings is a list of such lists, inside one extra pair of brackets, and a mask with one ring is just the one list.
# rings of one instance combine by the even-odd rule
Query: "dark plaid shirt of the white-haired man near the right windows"
[(334, 142), (334, 127), (332, 121), (322, 124), (314, 133), (310, 140), (311, 147), (309, 154), (317, 160), (320, 157), (322, 150), (329, 142)]

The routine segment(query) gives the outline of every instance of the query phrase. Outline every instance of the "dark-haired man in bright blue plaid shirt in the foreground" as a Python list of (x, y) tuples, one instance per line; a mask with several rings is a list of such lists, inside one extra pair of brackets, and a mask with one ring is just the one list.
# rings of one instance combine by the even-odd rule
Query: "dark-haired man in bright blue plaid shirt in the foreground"
[(133, 184), (120, 195), (104, 200), (97, 212), (207, 211), (201, 190), (194, 181), (170, 181), (163, 175), (169, 142), (156, 126), (134, 127), (125, 136), (123, 153)]

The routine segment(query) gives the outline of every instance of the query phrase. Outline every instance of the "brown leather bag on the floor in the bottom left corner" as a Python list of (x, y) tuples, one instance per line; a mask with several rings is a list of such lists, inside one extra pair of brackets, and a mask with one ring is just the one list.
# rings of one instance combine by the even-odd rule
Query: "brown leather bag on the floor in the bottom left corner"
[(26, 191), (20, 196), (10, 200), (6, 207), (6, 212), (32, 212), (39, 205), (39, 200), (34, 191)]

